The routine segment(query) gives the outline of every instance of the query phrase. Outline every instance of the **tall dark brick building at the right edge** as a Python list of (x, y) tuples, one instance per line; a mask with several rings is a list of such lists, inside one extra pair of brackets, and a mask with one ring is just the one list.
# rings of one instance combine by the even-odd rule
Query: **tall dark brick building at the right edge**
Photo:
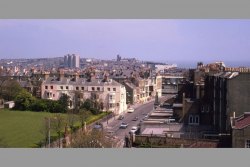
[(220, 72), (205, 78), (201, 121), (211, 123), (218, 133), (230, 133), (230, 117), (248, 112), (250, 73)]

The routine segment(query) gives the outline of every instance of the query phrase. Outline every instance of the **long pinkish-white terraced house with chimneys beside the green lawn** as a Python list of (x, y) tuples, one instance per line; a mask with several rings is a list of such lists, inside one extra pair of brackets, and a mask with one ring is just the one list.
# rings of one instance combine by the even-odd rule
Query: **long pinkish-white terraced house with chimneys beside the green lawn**
[(69, 108), (72, 109), (79, 101), (86, 99), (96, 100), (102, 103), (103, 111), (112, 111), (118, 115), (127, 109), (126, 89), (120, 83), (108, 79), (46, 77), (41, 85), (41, 97), (43, 99), (58, 100), (63, 94), (70, 97)]

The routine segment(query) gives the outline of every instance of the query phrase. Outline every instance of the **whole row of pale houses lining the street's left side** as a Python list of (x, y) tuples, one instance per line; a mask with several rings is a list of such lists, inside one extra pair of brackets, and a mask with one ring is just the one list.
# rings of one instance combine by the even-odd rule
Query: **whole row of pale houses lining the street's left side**
[[(69, 108), (74, 108), (77, 101), (86, 99), (102, 103), (103, 111), (114, 114), (126, 112), (128, 105), (143, 103), (155, 96), (161, 95), (161, 76), (148, 79), (129, 79), (120, 83), (115, 78), (81, 78), (77, 73), (73, 77), (65, 77), (61, 71), (59, 76), (50, 77), (45, 73), (41, 84), (41, 98), (58, 100), (63, 94), (69, 96)], [(119, 80), (118, 80), (119, 81)]]

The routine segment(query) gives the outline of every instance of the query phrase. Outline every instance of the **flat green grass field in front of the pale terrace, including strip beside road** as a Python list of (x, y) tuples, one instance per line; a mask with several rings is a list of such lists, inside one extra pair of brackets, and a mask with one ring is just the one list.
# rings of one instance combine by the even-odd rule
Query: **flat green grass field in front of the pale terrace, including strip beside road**
[[(66, 119), (67, 115), (63, 115)], [(105, 115), (105, 113), (102, 113), (97, 116), (91, 116), (88, 119), (88, 122), (97, 120)], [(39, 143), (44, 137), (41, 131), (44, 126), (44, 118), (48, 116), (53, 116), (53, 114), (1, 109), (0, 147), (37, 147), (37, 143)]]

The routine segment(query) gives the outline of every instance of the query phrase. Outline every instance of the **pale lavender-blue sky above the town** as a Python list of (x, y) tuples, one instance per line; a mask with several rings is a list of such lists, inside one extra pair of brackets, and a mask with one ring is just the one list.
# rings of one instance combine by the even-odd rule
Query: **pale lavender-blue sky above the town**
[[(0, 20), (0, 58), (249, 63), (250, 20)], [(250, 63), (249, 63), (250, 65)]]

